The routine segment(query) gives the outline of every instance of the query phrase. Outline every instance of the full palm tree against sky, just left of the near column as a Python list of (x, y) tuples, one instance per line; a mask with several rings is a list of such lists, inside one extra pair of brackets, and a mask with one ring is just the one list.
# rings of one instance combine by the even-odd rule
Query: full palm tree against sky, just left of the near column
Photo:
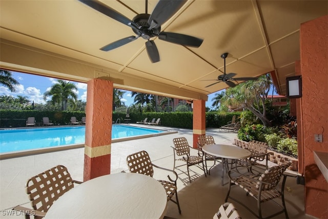
[(56, 103), (60, 104), (61, 110), (66, 110), (69, 101), (76, 102), (77, 100), (77, 94), (74, 91), (77, 91), (77, 87), (74, 84), (57, 79), (57, 83), (51, 86), (50, 90), (43, 94), (43, 98), (46, 100), (48, 96), (51, 96), (50, 102), (53, 105)]

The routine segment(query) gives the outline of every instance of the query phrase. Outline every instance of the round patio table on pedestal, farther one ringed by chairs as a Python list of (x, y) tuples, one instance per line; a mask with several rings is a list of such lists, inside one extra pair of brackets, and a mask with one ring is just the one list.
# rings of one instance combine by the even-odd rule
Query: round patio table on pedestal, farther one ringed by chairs
[(220, 144), (205, 145), (202, 147), (202, 150), (205, 153), (222, 158), (222, 176), (221, 176), (222, 186), (224, 185), (223, 184), (224, 169), (226, 168), (228, 170), (229, 168), (227, 159), (236, 160), (236, 159), (242, 159), (251, 156), (251, 152), (249, 150), (234, 145), (220, 145)]

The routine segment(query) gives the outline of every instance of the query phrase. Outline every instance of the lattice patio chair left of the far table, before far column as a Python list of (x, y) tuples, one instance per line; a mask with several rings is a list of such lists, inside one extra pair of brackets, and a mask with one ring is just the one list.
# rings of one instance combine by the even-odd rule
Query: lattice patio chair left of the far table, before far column
[[(191, 166), (197, 166), (201, 170), (204, 171), (205, 177), (206, 177), (206, 168), (204, 167), (204, 162), (203, 162), (203, 152), (200, 150), (197, 150), (191, 146), (189, 146), (187, 138), (186, 137), (177, 137), (173, 139), (173, 154), (174, 154), (174, 166), (173, 169), (182, 167), (182, 166), (187, 166), (187, 173), (189, 177), (189, 182), (191, 183), (191, 178), (190, 178), (190, 173), (189, 173), (189, 167)], [(197, 150), (198, 155), (190, 155), (190, 150)], [(176, 166), (176, 161), (182, 161), (185, 162), (185, 164)], [(201, 164), (201, 166), (200, 166)]]

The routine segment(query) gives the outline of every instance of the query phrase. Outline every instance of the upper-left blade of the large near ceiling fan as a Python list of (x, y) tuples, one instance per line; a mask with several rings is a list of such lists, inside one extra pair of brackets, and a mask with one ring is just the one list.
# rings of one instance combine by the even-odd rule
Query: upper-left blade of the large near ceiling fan
[(116, 21), (128, 25), (129, 27), (137, 28), (137, 25), (133, 23), (128, 17), (122, 15), (121, 13), (115, 11), (114, 9), (105, 6), (103, 3), (96, 2), (94, 0), (78, 0), (81, 3), (86, 4), (87, 6), (99, 11), (100, 13), (103, 13)]

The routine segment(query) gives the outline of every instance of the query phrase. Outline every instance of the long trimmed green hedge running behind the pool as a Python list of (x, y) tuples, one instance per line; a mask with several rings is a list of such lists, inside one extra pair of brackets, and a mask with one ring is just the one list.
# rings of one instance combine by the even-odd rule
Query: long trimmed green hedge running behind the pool
[[(148, 120), (152, 118), (160, 118), (160, 125), (174, 128), (193, 128), (192, 112), (147, 112), (147, 113), (129, 113), (129, 123), (143, 121), (146, 117)], [(219, 128), (227, 125), (232, 120), (232, 116), (240, 116), (240, 112), (227, 113), (220, 115), (217, 112), (206, 112), (206, 127)], [(41, 123), (42, 117), (49, 117), (55, 125), (66, 125), (70, 123), (71, 116), (75, 116), (81, 121), (86, 116), (82, 111), (37, 111), (37, 110), (0, 110), (0, 128), (8, 127), (25, 127), (28, 117), (35, 117), (36, 122)], [(126, 113), (113, 113), (112, 120), (115, 123), (119, 118), (120, 123), (124, 123)]]

